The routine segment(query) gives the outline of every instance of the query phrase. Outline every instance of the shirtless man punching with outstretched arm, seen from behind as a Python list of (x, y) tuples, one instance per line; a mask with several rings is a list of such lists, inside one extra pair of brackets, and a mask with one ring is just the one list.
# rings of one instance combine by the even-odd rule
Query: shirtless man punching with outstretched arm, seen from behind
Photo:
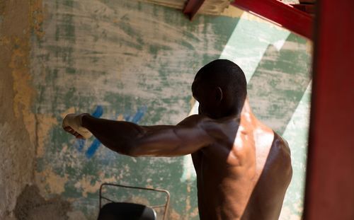
[(70, 114), (63, 127), (77, 138), (92, 133), (128, 156), (191, 154), (202, 220), (278, 219), (292, 177), (290, 149), (251, 112), (244, 72), (217, 59), (198, 71), (192, 92), (199, 114), (178, 125), (139, 126)]

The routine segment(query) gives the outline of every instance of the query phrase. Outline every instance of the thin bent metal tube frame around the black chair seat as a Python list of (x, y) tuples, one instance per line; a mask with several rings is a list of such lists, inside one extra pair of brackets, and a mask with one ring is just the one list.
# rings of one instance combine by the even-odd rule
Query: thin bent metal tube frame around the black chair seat
[(161, 205), (155, 205), (155, 206), (149, 206), (151, 208), (161, 208), (161, 207), (165, 207), (164, 209), (164, 218), (163, 219), (166, 219), (166, 216), (167, 216), (167, 209), (169, 208), (169, 203), (170, 203), (170, 192), (167, 191), (167, 190), (161, 190), (161, 189), (154, 189), (154, 188), (148, 188), (148, 187), (133, 187), (133, 186), (129, 186), (129, 185), (120, 185), (120, 184), (113, 184), (113, 183), (103, 183), (100, 187), (100, 209), (102, 208), (102, 202), (101, 200), (102, 199), (106, 199), (110, 202), (115, 202), (113, 201), (112, 199), (108, 199), (107, 197), (103, 197), (102, 196), (102, 188), (103, 186), (105, 185), (110, 185), (110, 186), (115, 186), (115, 187), (122, 187), (122, 188), (130, 188), (130, 189), (136, 189), (136, 190), (150, 190), (150, 191), (155, 191), (155, 192), (164, 192), (166, 193), (166, 203), (165, 204), (161, 204)]

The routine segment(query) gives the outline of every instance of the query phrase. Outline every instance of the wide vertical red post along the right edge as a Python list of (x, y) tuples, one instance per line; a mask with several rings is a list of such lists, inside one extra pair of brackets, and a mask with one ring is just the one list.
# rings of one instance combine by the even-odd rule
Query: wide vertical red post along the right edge
[(321, 0), (304, 219), (354, 219), (354, 1)]

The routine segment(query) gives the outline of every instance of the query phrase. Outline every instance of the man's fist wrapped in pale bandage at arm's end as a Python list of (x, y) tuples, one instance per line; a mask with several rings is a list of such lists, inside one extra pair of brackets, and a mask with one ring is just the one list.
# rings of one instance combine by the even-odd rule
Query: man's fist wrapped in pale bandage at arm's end
[(62, 127), (65, 131), (79, 139), (88, 139), (91, 132), (82, 127), (82, 116), (85, 114), (68, 114), (64, 117)]

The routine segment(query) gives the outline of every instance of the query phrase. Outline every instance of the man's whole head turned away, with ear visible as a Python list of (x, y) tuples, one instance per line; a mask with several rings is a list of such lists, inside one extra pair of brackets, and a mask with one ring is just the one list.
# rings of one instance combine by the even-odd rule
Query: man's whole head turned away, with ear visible
[(195, 75), (192, 92), (200, 104), (200, 115), (220, 118), (241, 113), (246, 87), (246, 77), (239, 66), (227, 59), (216, 59)]

